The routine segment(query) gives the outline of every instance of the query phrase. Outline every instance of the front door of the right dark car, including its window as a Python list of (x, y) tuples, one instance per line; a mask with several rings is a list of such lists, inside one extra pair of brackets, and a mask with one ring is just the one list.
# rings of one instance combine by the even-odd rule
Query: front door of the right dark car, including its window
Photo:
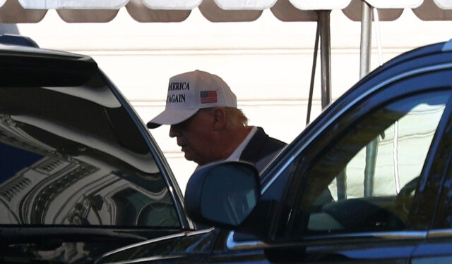
[(451, 70), (382, 83), (346, 94), (288, 147), (263, 175), (265, 242), (233, 232), (215, 261), (408, 263), (448, 171)]

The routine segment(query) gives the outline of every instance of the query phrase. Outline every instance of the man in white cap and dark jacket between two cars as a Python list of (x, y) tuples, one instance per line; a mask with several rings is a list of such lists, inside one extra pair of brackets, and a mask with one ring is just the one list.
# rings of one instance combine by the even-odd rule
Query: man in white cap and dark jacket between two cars
[(285, 143), (247, 122), (226, 82), (195, 70), (169, 79), (165, 111), (148, 127), (171, 125), (169, 137), (176, 137), (185, 158), (198, 165), (240, 160), (261, 171)]

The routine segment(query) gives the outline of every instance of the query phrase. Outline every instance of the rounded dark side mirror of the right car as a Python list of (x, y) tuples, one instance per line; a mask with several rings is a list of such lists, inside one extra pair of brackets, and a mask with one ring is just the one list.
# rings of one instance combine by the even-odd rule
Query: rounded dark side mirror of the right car
[(256, 168), (241, 161), (203, 166), (191, 175), (185, 189), (185, 206), (191, 220), (217, 227), (238, 227), (260, 198)]

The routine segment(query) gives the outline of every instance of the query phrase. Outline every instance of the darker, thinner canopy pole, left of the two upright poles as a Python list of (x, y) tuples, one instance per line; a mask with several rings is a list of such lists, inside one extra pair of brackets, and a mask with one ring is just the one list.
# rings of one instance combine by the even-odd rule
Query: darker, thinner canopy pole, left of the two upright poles
[(331, 11), (318, 11), (320, 27), (320, 54), (321, 54), (321, 84), (322, 84), (322, 109), (331, 103)]

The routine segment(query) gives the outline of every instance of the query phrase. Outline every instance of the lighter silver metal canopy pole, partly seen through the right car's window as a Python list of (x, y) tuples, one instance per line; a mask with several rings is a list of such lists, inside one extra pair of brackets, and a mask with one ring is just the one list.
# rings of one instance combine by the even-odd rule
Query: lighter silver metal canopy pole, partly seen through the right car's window
[[(362, 79), (369, 73), (370, 69), (370, 49), (371, 49), (371, 6), (366, 1), (362, 1), (361, 6), (361, 54), (359, 78)], [(374, 194), (374, 175), (376, 166), (376, 153), (378, 153), (378, 137), (373, 139), (366, 146), (366, 165), (364, 168), (364, 197)]]

